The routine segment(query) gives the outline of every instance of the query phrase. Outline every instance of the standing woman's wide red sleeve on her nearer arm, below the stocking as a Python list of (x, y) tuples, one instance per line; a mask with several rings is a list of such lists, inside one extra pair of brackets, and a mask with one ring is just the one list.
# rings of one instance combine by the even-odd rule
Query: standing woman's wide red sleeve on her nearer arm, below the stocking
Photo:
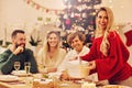
[(108, 37), (110, 43), (109, 55), (96, 59), (99, 80), (113, 78), (124, 66), (129, 58), (129, 51), (117, 33)]

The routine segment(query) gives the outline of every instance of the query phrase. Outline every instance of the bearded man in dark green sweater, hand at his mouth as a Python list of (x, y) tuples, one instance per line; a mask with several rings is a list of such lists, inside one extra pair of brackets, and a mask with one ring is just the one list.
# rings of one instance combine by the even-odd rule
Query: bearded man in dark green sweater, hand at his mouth
[(33, 52), (25, 47), (25, 33), (22, 30), (14, 30), (11, 34), (11, 46), (0, 54), (0, 72), (1, 74), (11, 74), (14, 70), (14, 62), (20, 62), (20, 69), (24, 69), (24, 63), (30, 62), (30, 73), (37, 73), (36, 61)]

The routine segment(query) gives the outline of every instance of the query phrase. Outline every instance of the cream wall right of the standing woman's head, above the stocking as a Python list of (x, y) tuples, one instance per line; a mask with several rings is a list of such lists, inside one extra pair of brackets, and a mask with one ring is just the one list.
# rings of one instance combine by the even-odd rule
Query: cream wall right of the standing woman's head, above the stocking
[(132, 0), (102, 0), (101, 6), (110, 7), (113, 10), (116, 23), (132, 22)]

